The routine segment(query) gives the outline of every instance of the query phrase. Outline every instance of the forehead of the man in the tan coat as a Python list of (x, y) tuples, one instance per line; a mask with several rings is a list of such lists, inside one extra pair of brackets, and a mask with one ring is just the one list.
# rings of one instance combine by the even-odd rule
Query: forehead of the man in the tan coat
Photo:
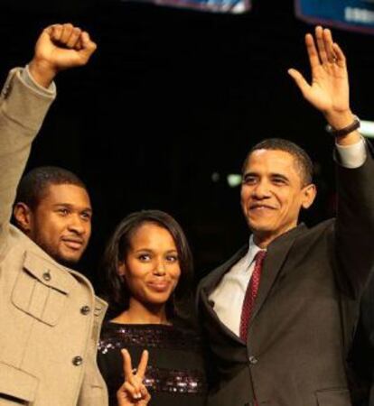
[(91, 208), (89, 194), (86, 189), (66, 183), (48, 185), (39, 205), (59, 204), (66, 204), (75, 208)]

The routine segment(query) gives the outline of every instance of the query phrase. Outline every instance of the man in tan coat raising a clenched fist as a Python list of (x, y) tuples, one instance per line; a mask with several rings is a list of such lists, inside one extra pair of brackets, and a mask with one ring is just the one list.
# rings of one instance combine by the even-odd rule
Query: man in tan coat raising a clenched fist
[[(95, 298), (84, 276), (65, 267), (79, 260), (89, 241), (87, 190), (67, 171), (31, 175), (20, 189), (24, 201), (14, 206), (14, 219), (22, 231), (10, 224), (33, 138), (55, 95), (52, 80), (61, 69), (85, 65), (95, 49), (87, 32), (71, 24), (53, 25), (42, 32), (29, 66), (14, 69), (1, 94), (2, 406), (108, 404), (96, 364), (107, 305)], [(30, 189), (34, 184), (40, 186), (36, 195)]]

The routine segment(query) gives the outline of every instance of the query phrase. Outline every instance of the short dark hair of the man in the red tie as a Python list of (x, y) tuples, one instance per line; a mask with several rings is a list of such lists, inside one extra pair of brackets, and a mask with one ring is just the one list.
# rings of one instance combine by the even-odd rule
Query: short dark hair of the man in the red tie
[(257, 150), (272, 150), (272, 151), (284, 151), (290, 153), (295, 158), (295, 163), (300, 170), (302, 180), (305, 185), (309, 185), (313, 180), (313, 161), (310, 156), (304, 151), (302, 147), (293, 143), (292, 141), (285, 140), (283, 138), (268, 138), (253, 146), (243, 163), (242, 174), (246, 171), (249, 157), (252, 152)]

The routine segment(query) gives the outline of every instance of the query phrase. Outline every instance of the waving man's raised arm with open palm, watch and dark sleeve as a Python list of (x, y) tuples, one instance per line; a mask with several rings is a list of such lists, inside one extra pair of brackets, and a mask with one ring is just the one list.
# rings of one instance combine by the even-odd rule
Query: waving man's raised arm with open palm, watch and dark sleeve
[(315, 29), (305, 36), (312, 69), (312, 83), (295, 69), (295, 79), (304, 98), (320, 110), (335, 136), (338, 175), (337, 218), (334, 249), (339, 275), (348, 276), (352, 293), (360, 295), (374, 267), (374, 160), (357, 131), (360, 122), (350, 108), (346, 60), (330, 30)]

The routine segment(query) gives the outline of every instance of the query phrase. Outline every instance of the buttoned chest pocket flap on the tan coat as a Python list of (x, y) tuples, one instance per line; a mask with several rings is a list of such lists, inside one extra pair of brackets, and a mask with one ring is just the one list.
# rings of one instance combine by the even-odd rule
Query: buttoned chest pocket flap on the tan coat
[(46, 258), (26, 251), (23, 261), (23, 269), (31, 273), (33, 277), (44, 285), (68, 294), (70, 291), (71, 276), (57, 263), (52, 263)]

